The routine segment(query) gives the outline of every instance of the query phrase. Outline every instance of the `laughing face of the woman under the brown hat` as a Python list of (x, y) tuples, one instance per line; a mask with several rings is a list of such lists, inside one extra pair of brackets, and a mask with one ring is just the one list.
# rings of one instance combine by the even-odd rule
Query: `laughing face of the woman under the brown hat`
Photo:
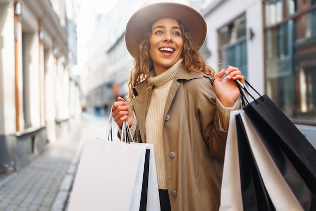
[(163, 73), (181, 58), (183, 39), (177, 20), (163, 18), (152, 24), (149, 55), (156, 75)]

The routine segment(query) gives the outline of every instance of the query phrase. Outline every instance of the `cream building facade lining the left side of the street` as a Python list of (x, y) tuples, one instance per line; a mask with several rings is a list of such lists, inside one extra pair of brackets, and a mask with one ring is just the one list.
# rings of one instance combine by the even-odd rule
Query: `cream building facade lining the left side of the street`
[(65, 0), (0, 0), (0, 173), (25, 166), (78, 120), (67, 27)]

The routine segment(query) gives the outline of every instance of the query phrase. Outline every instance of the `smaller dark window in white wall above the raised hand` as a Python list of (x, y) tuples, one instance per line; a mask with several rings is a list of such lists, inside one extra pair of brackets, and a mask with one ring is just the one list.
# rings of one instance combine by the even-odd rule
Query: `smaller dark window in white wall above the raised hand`
[(238, 67), (247, 78), (246, 16), (235, 19), (218, 30), (219, 55), (223, 64)]

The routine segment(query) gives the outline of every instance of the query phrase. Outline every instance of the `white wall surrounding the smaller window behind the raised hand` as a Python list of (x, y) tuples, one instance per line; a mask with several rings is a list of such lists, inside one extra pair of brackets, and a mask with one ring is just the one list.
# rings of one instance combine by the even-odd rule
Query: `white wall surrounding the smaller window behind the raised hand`
[[(210, 65), (218, 68), (218, 34), (219, 28), (232, 22), (241, 14), (246, 14), (247, 34), (251, 27), (255, 33), (252, 40), (247, 35), (248, 81), (259, 93), (264, 93), (264, 47), (262, 34), (262, 2), (260, 0), (224, 1), (209, 14), (204, 15), (207, 22), (207, 47), (211, 51)], [(212, 4), (210, 4), (212, 6)], [(206, 11), (204, 9), (204, 11)], [(202, 13), (204, 12), (202, 11)]]

